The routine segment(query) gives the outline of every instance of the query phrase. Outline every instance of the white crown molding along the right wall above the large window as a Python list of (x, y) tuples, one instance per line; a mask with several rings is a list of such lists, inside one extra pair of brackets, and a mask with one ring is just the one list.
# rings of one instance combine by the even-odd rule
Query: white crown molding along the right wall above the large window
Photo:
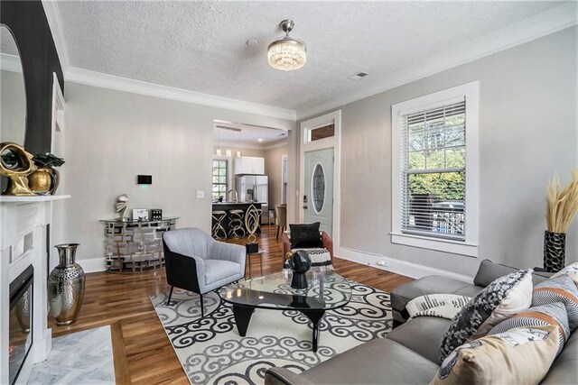
[(420, 78), (425, 78), (445, 69), (452, 69), (478, 60), (501, 50), (533, 41), (550, 33), (564, 30), (578, 23), (578, 3), (570, 2), (537, 14), (520, 23), (510, 25), (497, 32), (482, 36), (475, 41), (440, 53), (424, 64), (416, 64), (387, 74), (387, 79), (359, 92), (331, 98), (322, 103), (297, 110), (297, 120), (331, 111), (368, 96), (403, 86)]

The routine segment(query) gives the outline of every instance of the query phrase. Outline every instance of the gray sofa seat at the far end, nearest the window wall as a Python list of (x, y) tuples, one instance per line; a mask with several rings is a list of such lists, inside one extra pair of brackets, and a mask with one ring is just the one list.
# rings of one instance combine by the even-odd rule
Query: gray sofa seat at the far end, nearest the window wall
[[(399, 312), (406, 308), (407, 302), (426, 294), (456, 294), (456, 291), (473, 287), (471, 283), (439, 275), (430, 275), (412, 280), (391, 290), (391, 307)], [(461, 293), (459, 293), (461, 294)], [(466, 295), (467, 294), (461, 294)]]

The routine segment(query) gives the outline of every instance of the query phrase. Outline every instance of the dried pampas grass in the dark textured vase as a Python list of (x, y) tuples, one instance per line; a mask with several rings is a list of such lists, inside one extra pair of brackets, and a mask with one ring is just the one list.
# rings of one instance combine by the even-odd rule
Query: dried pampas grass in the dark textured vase
[(565, 233), (578, 212), (578, 169), (571, 170), (572, 180), (565, 187), (555, 174), (545, 194), (545, 222), (551, 233)]

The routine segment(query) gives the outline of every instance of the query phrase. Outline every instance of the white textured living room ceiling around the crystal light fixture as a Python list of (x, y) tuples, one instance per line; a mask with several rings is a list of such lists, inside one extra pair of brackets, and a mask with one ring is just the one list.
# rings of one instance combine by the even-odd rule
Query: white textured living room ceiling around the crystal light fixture
[[(562, 5), (559, 2), (59, 1), (70, 65), (294, 110), (359, 92), (407, 66)], [(295, 22), (303, 69), (266, 62)], [(256, 39), (257, 47), (246, 41)], [(364, 71), (368, 77), (350, 80)]]

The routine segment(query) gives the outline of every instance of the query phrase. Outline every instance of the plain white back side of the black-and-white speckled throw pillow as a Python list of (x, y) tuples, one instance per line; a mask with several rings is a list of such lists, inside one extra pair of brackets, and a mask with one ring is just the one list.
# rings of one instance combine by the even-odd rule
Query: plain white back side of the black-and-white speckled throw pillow
[(515, 316), (519, 312), (532, 306), (532, 274), (527, 274), (519, 283), (508, 292), (499, 305), (492, 310), (489, 317), (480, 325), (470, 339), (475, 340), (487, 335), (489, 330), (504, 319)]

